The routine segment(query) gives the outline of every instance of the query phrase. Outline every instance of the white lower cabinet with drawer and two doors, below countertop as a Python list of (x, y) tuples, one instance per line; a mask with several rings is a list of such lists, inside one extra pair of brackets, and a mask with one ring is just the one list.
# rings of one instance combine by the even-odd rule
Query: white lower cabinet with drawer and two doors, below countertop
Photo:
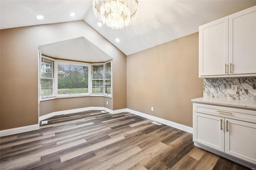
[(194, 142), (256, 165), (256, 111), (198, 103), (193, 108)]

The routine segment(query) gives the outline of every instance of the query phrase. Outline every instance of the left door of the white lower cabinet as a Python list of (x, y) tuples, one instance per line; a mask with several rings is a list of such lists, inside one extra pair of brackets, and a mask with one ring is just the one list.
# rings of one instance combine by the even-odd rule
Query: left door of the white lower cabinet
[(194, 113), (193, 140), (224, 152), (224, 118)]

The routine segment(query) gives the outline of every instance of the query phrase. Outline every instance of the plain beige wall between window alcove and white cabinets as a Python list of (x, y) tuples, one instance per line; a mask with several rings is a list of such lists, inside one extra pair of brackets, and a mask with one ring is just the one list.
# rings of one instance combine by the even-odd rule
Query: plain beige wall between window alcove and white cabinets
[(128, 109), (192, 127), (190, 100), (202, 96), (198, 33), (127, 56)]

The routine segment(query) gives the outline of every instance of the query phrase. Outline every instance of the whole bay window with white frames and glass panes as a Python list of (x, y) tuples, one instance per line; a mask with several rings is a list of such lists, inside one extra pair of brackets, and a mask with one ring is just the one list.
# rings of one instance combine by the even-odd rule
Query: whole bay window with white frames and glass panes
[(40, 98), (111, 97), (111, 61), (96, 65), (42, 56), (40, 65)]

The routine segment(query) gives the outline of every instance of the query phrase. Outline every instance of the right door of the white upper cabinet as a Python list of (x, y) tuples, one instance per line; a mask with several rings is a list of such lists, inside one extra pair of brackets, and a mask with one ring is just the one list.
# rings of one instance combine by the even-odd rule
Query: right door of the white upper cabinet
[(229, 74), (256, 73), (256, 6), (229, 16)]

